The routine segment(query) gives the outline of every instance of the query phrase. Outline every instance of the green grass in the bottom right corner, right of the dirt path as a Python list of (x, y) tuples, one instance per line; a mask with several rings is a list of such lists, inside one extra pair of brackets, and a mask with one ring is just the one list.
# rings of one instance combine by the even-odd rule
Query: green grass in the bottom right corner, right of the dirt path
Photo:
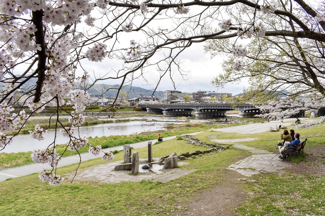
[(324, 215), (325, 178), (286, 173), (256, 175), (253, 179), (254, 195), (237, 208), (240, 215)]

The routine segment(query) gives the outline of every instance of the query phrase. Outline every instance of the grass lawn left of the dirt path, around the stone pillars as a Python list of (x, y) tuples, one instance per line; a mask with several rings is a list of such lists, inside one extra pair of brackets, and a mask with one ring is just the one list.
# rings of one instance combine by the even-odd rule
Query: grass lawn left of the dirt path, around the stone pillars
[[(154, 157), (170, 154), (174, 151), (194, 151), (205, 147), (187, 144), (185, 141), (166, 141), (153, 145)], [(206, 149), (206, 148), (205, 148)], [(137, 149), (140, 155), (147, 154), (147, 149)], [(122, 159), (122, 152), (115, 160)], [(0, 215), (166, 215), (175, 211), (184, 201), (189, 201), (196, 193), (213, 187), (226, 178), (224, 167), (243, 159), (238, 151), (223, 151), (204, 155), (189, 162), (182, 168), (199, 169), (167, 183), (122, 182), (105, 184), (97, 181), (81, 181), (53, 187), (42, 183), (38, 174), (0, 182)], [(105, 163), (92, 160), (81, 163), (81, 169)], [(76, 165), (62, 167), (58, 172), (71, 173)], [(139, 200), (141, 200), (139, 202)], [(183, 205), (182, 208), (185, 206)]]

